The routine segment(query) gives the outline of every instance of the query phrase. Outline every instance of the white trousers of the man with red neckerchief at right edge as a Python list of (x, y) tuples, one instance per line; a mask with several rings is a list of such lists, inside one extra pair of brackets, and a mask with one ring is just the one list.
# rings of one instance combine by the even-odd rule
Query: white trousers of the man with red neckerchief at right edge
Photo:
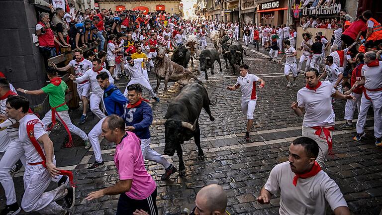
[(366, 115), (369, 107), (373, 104), (374, 108), (374, 136), (382, 137), (382, 91), (366, 91), (371, 101), (362, 94), (360, 113), (357, 120), (357, 133), (363, 133), (366, 123)]

